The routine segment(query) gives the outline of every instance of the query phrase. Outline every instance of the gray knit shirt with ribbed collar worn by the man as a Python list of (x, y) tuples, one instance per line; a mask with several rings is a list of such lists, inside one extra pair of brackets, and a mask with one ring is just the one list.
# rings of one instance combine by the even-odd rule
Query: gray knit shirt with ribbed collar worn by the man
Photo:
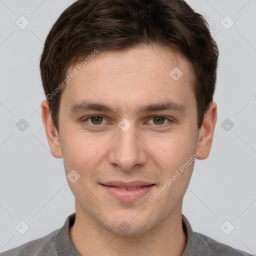
[[(69, 237), (69, 226), (72, 226), (75, 212), (70, 214), (60, 229), (16, 248), (0, 253), (0, 256), (80, 256)], [(187, 235), (187, 243), (182, 256), (242, 256), (250, 255), (217, 242), (203, 234), (193, 232), (188, 220), (182, 214), (182, 227)]]

